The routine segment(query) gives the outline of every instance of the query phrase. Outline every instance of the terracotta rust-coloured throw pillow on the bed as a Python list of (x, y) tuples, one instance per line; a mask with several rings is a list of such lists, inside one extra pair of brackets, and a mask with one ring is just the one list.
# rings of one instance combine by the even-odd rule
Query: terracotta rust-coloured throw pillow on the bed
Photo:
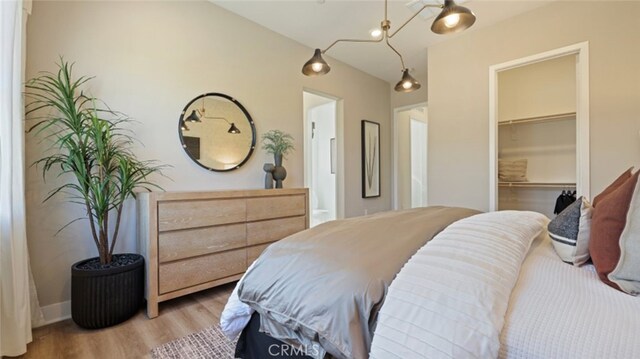
[[(607, 277), (620, 260), (620, 235), (627, 221), (627, 212), (638, 182), (640, 171), (628, 178), (621, 186), (600, 199), (594, 207), (591, 221), (589, 252), (600, 280), (620, 289)], [(617, 180), (616, 180), (617, 181)]]

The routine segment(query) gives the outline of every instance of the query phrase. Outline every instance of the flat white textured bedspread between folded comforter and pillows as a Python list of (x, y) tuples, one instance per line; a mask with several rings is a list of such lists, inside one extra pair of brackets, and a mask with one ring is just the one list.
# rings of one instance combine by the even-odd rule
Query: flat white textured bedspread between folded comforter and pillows
[(501, 358), (640, 358), (640, 298), (600, 282), (536, 240), (522, 265), (501, 334)]

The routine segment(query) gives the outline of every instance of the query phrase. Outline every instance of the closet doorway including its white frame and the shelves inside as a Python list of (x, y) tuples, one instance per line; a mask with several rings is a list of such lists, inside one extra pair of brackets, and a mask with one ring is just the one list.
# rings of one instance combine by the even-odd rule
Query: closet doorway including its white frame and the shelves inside
[(589, 196), (588, 43), (491, 66), (490, 210)]

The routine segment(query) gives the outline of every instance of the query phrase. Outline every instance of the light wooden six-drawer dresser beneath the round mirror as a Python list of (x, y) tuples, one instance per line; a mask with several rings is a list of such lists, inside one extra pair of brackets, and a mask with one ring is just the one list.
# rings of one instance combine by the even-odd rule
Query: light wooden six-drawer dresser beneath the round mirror
[(308, 199), (306, 188), (140, 193), (149, 318), (162, 301), (240, 279), (269, 244), (309, 228)]

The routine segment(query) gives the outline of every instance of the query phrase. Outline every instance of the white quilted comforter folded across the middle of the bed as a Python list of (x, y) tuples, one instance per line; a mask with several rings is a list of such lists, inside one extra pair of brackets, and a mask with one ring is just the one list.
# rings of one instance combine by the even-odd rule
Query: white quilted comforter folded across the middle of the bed
[(497, 358), (511, 291), (548, 219), (502, 211), (457, 221), (389, 287), (371, 358)]

